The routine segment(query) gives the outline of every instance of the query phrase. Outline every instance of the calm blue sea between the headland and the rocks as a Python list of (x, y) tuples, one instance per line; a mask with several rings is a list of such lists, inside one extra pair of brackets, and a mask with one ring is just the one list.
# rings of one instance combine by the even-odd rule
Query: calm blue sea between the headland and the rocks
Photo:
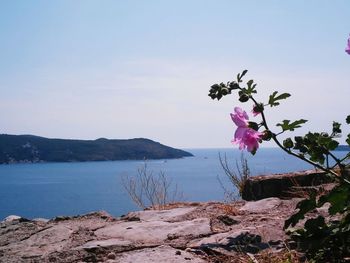
[[(241, 152), (236, 149), (187, 149), (195, 157), (147, 161), (154, 173), (164, 171), (182, 190), (186, 201), (224, 199), (217, 177), (231, 185), (221, 169), (218, 154), (225, 154), (235, 167)], [(246, 154), (252, 174), (270, 174), (312, 167), (282, 150), (260, 149)], [(0, 220), (15, 214), (26, 218), (52, 218), (105, 210), (120, 216), (138, 208), (129, 199), (121, 182), (132, 176), (143, 161), (84, 163), (40, 163), (0, 165)]]

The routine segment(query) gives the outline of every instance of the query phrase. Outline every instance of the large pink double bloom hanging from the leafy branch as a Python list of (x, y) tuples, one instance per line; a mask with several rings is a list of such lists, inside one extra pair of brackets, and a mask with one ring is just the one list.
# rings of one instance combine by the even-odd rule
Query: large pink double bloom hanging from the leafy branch
[(239, 149), (247, 148), (248, 152), (255, 153), (259, 148), (259, 141), (262, 133), (252, 128), (249, 128), (248, 115), (239, 107), (234, 108), (234, 113), (231, 113), (232, 121), (238, 126), (232, 143), (239, 144)]

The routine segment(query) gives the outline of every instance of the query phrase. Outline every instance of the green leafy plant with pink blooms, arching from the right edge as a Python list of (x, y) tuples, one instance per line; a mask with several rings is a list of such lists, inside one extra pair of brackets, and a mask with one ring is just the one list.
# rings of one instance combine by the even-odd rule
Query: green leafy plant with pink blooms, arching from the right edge
[[(288, 137), (281, 142), (279, 140), (281, 134), (293, 132), (307, 120), (283, 120), (276, 124), (281, 131), (274, 132), (267, 122), (265, 107), (276, 107), (291, 95), (274, 91), (268, 97), (267, 103), (258, 102), (254, 97), (257, 93), (256, 83), (249, 80), (245, 85), (243, 84), (243, 76), (246, 74), (247, 70), (244, 70), (237, 75), (235, 81), (227, 82), (227, 84), (214, 84), (209, 90), (209, 96), (217, 100), (235, 90), (238, 92), (238, 100), (242, 103), (252, 101), (254, 115), (261, 116), (259, 123), (249, 121), (247, 113), (236, 107), (234, 113), (231, 114), (233, 122), (237, 125), (232, 142), (239, 144), (240, 149), (247, 148), (254, 155), (260, 143), (273, 140), (286, 153), (333, 177), (336, 186), (321, 197), (313, 194), (308, 199), (299, 202), (298, 212), (286, 220), (284, 228), (295, 226), (310, 211), (322, 207), (325, 203), (330, 203), (329, 214), (339, 214), (340, 220), (327, 223), (324, 217), (319, 216), (308, 219), (304, 228), (297, 230), (289, 228), (288, 232), (298, 241), (300, 248), (309, 258), (314, 258), (317, 262), (329, 262), (331, 259), (343, 262), (346, 257), (350, 258), (350, 166), (348, 163), (350, 153), (348, 152), (343, 158), (338, 158), (332, 152), (339, 145), (337, 139), (342, 133), (341, 124), (333, 122), (329, 133), (308, 132), (304, 136)], [(350, 124), (350, 115), (346, 117), (346, 123)], [(350, 134), (347, 135), (346, 143), (350, 146)], [(331, 164), (332, 162), (334, 164)]]

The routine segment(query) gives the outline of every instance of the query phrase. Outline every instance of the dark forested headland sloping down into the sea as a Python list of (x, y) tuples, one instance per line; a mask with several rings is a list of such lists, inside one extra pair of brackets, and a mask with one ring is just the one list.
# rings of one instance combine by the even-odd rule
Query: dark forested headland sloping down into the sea
[(0, 135), (0, 164), (170, 159), (192, 156), (149, 139), (66, 140), (33, 135)]

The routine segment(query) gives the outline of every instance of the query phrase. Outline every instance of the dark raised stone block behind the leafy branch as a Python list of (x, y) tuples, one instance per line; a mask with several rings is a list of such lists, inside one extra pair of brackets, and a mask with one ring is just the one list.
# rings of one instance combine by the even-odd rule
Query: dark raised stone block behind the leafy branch
[(303, 191), (318, 191), (319, 187), (332, 187), (333, 179), (319, 170), (307, 170), (284, 174), (250, 177), (242, 190), (242, 198), (247, 201), (268, 197), (292, 198)]

